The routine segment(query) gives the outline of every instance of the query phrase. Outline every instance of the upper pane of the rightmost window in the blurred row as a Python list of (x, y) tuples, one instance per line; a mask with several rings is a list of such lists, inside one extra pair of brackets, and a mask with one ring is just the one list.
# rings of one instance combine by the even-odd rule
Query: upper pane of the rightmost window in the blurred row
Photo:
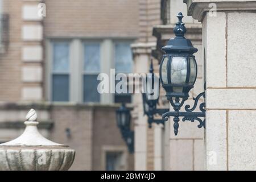
[(130, 43), (115, 43), (115, 72), (131, 73), (133, 58)]

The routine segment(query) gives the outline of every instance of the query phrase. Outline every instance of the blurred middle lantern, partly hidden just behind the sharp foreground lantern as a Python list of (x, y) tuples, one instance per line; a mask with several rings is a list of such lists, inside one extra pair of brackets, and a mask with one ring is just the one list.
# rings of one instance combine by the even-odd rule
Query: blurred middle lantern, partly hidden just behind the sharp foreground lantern
[[(144, 114), (147, 115), (148, 117), (148, 127), (152, 127), (152, 123), (162, 123), (164, 125), (163, 119), (154, 119), (155, 114), (160, 114), (162, 115), (163, 113), (166, 113), (169, 111), (169, 109), (156, 109), (156, 106), (158, 105), (159, 101), (159, 90), (160, 90), (160, 81), (158, 81), (158, 88), (154, 88), (155, 85), (155, 78), (159, 79), (157, 76), (154, 75), (154, 68), (153, 68), (153, 63), (151, 59), (151, 64), (150, 64), (150, 74), (146, 77), (146, 81), (143, 82), (143, 89), (144, 92), (142, 93), (142, 100), (143, 100), (143, 110)], [(152, 93), (149, 92), (148, 86), (152, 87), (152, 89), (155, 90), (157, 93)], [(156, 94), (156, 98), (152, 99), (150, 96), (152, 94)]]

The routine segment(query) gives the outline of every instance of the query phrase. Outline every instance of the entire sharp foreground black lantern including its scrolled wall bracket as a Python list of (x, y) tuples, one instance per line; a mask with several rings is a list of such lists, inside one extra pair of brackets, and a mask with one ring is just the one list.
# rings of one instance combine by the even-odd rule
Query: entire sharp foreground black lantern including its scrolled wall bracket
[[(198, 127), (205, 127), (205, 102), (199, 105), (199, 112), (194, 112), (201, 97), (205, 98), (205, 93), (200, 93), (191, 107), (186, 105), (185, 111), (180, 111), (184, 102), (188, 100), (189, 90), (193, 88), (197, 77), (197, 64), (193, 53), (197, 48), (192, 46), (191, 40), (185, 39), (184, 34), (187, 32), (182, 13), (177, 15), (179, 22), (176, 23), (174, 33), (176, 37), (168, 41), (167, 46), (162, 50), (166, 52), (160, 63), (160, 81), (166, 90), (167, 100), (170, 101), (174, 111), (168, 111), (162, 115), (163, 121), (168, 117), (174, 117), (174, 133), (177, 135), (179, 129), (179, 117), (182, 121), (198, 121)], [(191, 108), (191, 109), (190, 109)], [(202, 118), (202, 119), (201, 119)]]

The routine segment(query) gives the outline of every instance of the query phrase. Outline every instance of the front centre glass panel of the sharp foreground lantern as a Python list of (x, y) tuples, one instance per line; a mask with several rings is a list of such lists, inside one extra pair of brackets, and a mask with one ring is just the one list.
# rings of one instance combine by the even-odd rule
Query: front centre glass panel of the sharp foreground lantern
[(171, 61), (171, 83), (184, 85), (187, 78), (186, 57), (175, 56)]

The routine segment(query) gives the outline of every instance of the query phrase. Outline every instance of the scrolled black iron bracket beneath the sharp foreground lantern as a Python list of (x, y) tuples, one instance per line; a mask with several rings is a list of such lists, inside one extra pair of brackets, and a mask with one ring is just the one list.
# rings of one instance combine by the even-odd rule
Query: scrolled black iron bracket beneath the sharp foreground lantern
[[(168, 117), (174, 117), (174, 134), (177, 135), (178, 129), (179, 129), (179, 117), (183, 117), (182, 121), (198, 121), (199, 125), (197, 127), (205, 128), (205, 102), (201, 102), (199, 105), (199, 112), (193, 112), (197, 108), (197, 104), (199, 102), (200, 97), (205, 98), (205, 92), (200, 93), (196, 98), (193, 98), (194, 105), (191, 109), (189, 109), (190, 105), (185, 105), (184, 109), (185, 111), (179, 111), (180, 108), (183, 106), (184, 101), (187, 100), (187, 98), (183, 98), (183, 100), (180, 102), (179, 97), (170, 98), (170, 103), (172, 107), (174, 107), (174, 111), (168, 111), (162, 115), (163, 121), (168, 121)], [(201, 119), (203, 118), (203, 119)]]

